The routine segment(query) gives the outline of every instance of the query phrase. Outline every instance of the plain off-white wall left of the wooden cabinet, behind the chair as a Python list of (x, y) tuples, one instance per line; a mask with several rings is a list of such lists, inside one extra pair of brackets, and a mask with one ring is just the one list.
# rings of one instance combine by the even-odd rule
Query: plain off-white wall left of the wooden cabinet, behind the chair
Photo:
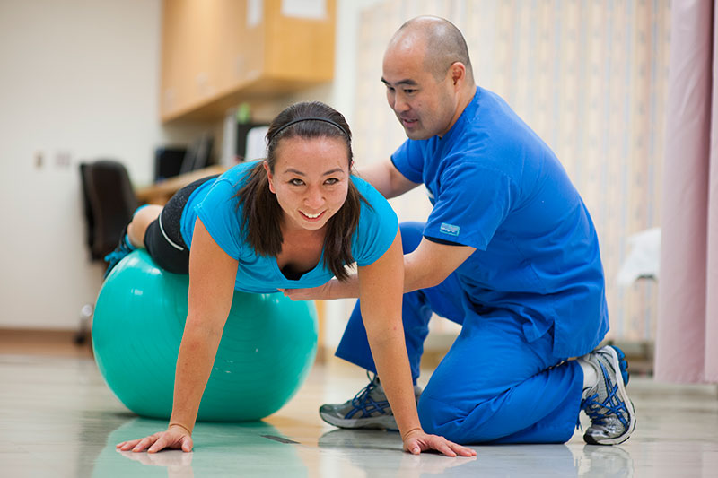
[(94, 300), (78, 164), (150, 180), (160, 31), (160, 0), (0, 1), (0, 327), (74, 328)]

